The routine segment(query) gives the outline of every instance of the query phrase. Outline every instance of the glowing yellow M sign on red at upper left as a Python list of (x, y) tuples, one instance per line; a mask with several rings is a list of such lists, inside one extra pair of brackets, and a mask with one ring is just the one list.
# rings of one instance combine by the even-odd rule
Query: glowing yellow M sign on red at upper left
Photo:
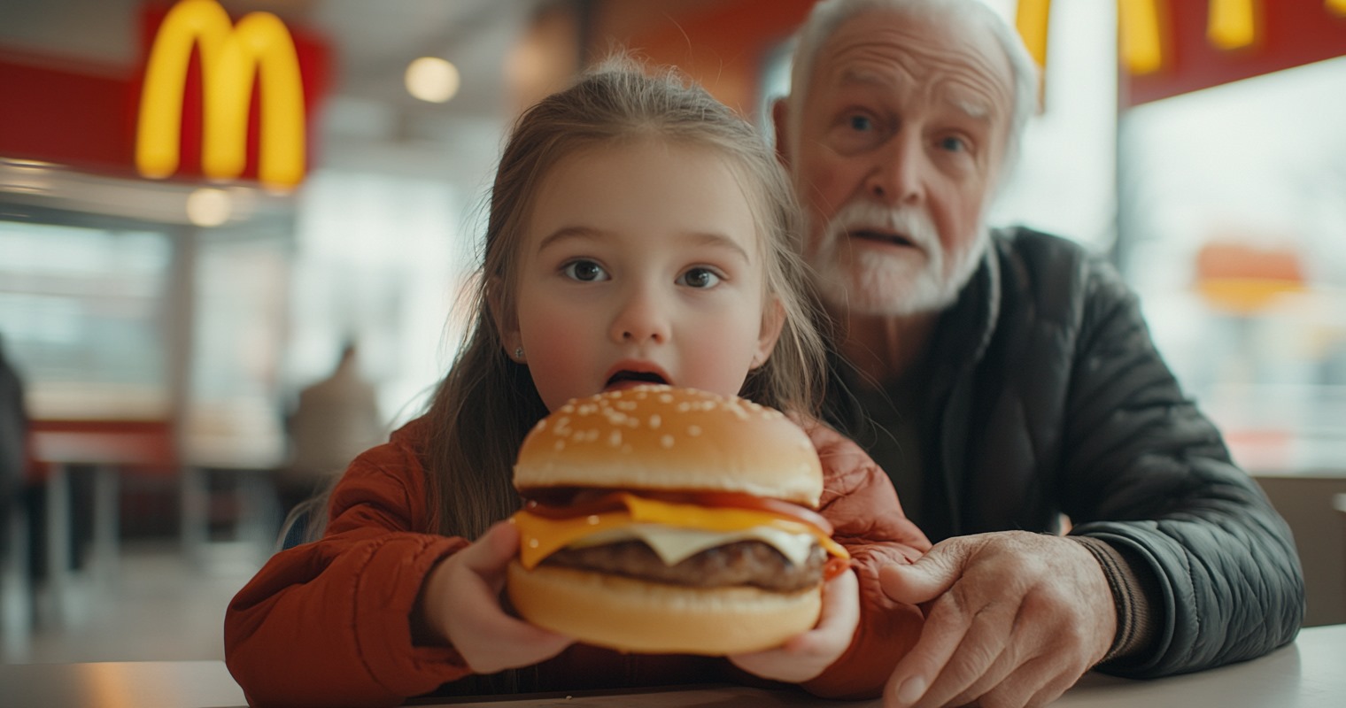
[(291, 188), (304, 178), (304, 93), (293, 39), (279, 17), (252, 12), (234, 26), (215, 0), (182, 0), (155, 36), (136, 128), (136, 167), (153, 179), (178, 170), (182, 104), (192, 47), (201, 50), (202, 172), (234, 179), (248, 163), (248, 112), (260, 77), (257, 178)]

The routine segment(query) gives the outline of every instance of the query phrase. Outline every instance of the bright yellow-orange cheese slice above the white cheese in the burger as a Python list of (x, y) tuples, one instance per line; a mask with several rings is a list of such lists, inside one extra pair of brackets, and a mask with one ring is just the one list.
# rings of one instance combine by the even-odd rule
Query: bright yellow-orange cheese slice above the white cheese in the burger
[(833, 556), (848, 559), (845, 548), (810, 524), (770, 511), (735, 507), (705, 507), (661, 502), (634, 494), (622, 494), (625, 510), (603, 511), (573, 518), (545, 518), (526, 510), (514, 514), (520, 530), (520, 563), (533, 568), (552, 553), (595, 533), (630, 529), (635, 525), (660, 524), (703, 532), (735, 533), (766, 526), (790, 534), (810, 534)]

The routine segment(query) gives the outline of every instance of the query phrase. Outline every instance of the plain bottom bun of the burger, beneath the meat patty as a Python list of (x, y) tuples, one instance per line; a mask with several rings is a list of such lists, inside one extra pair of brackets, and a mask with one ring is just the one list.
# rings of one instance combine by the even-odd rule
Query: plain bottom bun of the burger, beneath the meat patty
[(693, 588), (599, 572), (509, 567), (509, 598), (529, 622), (581, 642), (647, 654), (759, 651), (813, 629), (821, 588)]

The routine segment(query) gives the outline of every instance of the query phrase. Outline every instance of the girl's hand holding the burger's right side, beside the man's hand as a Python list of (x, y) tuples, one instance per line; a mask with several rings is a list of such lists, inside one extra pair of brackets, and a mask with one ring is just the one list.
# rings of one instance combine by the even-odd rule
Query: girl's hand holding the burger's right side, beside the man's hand
[(814, 678), (851, 646), (860, 623), (860, 583), (844, 572), (822, 586), (818, 626), (777, 649), (730, 657), (735, 666), (762, 678), (798, 684)]

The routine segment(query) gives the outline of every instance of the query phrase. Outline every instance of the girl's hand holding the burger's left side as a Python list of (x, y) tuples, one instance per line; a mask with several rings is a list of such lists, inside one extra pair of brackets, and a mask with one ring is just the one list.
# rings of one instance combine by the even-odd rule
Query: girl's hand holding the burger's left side
[(476, 673), (529, 666), (575, 642), (505, 614), (505, 568), (518, 551), (518, 529), (499, 522), (475, 544), (444, 559), (425, 579), (427, 623), (448, 639)]

